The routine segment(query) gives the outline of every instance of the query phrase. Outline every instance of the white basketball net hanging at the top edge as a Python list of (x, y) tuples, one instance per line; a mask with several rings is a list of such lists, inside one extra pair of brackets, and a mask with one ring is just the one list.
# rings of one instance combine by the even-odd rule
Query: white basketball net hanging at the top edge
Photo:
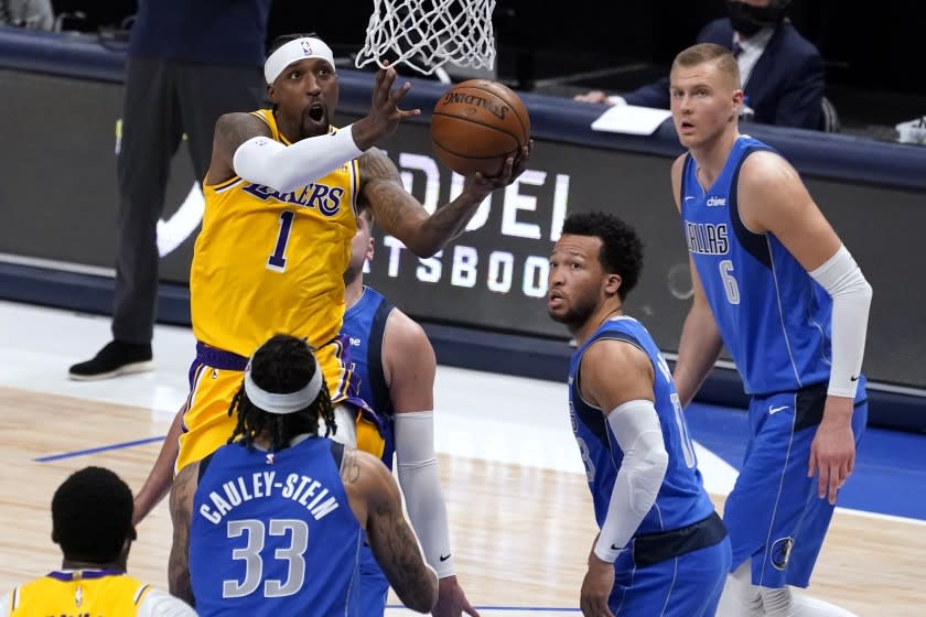
[(494, 9), (495, 0), (373, 0), (357, 68), (403, 63), (429, 75), (450, 62), (492, 69)]

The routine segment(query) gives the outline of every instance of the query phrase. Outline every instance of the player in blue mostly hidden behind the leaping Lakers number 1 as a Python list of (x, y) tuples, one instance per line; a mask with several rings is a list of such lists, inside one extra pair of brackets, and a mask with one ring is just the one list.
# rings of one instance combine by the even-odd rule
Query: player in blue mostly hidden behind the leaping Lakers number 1
[[(351, 264), (344, 274), (347, 310), (341, 334), (348, 343), (349, 369), (360, 399), (383, 419), (383, 462), (398, 458), (399, 484), (424, 559), (438, 573), (435, 617), (478, 617), (456, 581), (446, 507), (434, 456), (434, 372), (437, 359), (423, 328), (364, 285), (364, 263), (373, 259), (373, 212), (359, 204)], [(363, 439), (363, 435), (358, 435)], [(363, 615), (383, 615), (389, 583), (369, 550), (360, 553)]]

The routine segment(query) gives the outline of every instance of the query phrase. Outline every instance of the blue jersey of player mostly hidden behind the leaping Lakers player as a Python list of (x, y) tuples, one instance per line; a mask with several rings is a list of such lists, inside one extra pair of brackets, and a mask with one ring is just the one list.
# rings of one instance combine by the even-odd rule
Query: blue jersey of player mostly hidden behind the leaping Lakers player
[(383, 372), (383, 334), (392, 308), (383, 294), (364, 286), (360, 299), (344, 313), (344, 324), (341, 326), (341, 334), (351, 344), (349, 368), (359, 383), (358, 392), (352, 394), (366, 401), (381, 419), (380, 433), (386, 441), (383, 462), (390, 469), (392, 454), (396, 452), (392, 432), (395, 410)]

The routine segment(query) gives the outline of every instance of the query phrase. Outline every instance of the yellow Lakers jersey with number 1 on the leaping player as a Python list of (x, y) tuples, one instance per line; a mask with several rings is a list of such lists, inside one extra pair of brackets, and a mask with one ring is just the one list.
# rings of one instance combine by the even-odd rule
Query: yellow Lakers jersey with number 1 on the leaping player
[[(252, 113), (290, 144), (272, 111)], [(358, 186), (356, 160), (291, 193), (238, 176), (204, 184), (190, 272), (196, 338), (245, 357), (277, 333), (313, 347), (332, 340), (344, 317)]]

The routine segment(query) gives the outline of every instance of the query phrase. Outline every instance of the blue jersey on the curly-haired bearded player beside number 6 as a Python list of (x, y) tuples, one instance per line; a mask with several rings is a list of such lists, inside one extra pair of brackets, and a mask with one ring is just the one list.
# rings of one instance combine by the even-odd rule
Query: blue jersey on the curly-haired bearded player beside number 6
[(579, 368), (582, 355), (597, 340), (623, 340), (643, 350), (653, 362), (656, 412), (663, 429), (669, 466), (656, 502), (643, 519), (634, 537), (661, 533), (699, 522), (714, 509), (704, 491), (694, 447), (666, 360), (646, 328), (633, 317), (615, 317), (602, 324), (572, 356), (569, 367), (569, 408), (572, 431), (585, 464), (589, 488), (594, 500), (599, 527), (604, 523), (614, 480), (621, 469), (624, 453), (601, 409), (586, 403), (580, 394)]

